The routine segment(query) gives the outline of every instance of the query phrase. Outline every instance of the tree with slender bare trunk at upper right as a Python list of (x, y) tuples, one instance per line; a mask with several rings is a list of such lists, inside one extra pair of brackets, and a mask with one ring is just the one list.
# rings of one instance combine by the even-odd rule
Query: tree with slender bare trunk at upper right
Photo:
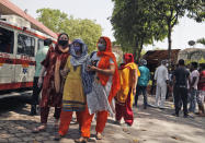
[(203, 0), (148, 0), (153, 9), (151, 10), (160, 21), (167, 23), (168, 27), (168, 50), (171, 58), (171, 33), (173, 27), (179, 23), (179, 17), (185, 14), (196, 22), (204, 21), (204, 2)]

